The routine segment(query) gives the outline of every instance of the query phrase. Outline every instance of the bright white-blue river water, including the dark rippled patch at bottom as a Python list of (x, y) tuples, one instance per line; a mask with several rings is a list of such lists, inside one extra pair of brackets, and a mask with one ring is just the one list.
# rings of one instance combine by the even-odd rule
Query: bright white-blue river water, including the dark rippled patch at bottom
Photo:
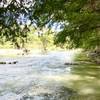
[[(75, 51), (50, 52), (22, 57), (1, 57), (0, 100), (68, 100), (74, 93), (64, 87), (58, 76), (70, 73)], [(63, 78), (63, 77), (62, 77)]]

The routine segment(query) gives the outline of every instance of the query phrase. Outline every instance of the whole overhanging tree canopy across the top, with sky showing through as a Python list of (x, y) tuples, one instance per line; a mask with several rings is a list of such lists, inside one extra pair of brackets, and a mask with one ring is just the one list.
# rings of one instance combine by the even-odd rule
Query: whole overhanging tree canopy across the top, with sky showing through
[(0, 36), (16, 44), (17, 37), (22, 42), (27, 38), (30, 25), (42, 30), (45, 26), (63, 23), (55, 43), (99, 48), (99, 5), (99, 0), (1, 0)]

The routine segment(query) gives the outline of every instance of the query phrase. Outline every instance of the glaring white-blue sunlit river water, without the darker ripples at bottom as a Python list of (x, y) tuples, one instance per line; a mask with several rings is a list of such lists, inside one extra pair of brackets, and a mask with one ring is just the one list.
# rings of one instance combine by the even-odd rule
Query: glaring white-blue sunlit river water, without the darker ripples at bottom
[[(46, 79), (47, 76), (70, 73), (70, 67), (64, 63), (72, 62), (75, 53), (74, 50), (54, 51), (47, 55), (0, 58), (2, 61), (18, 61), (17, 64), (0, 65), (0, 100), (20, 100), (24, 94), (32, 89), (35, 92), (36, 88), (39, 90), (40, 87), (49, 90), (51, 83)], [(48, 89), (45, 89), (46, 86)], [(34, 100), (43, 100), (43, 97), (34, 96)]]

